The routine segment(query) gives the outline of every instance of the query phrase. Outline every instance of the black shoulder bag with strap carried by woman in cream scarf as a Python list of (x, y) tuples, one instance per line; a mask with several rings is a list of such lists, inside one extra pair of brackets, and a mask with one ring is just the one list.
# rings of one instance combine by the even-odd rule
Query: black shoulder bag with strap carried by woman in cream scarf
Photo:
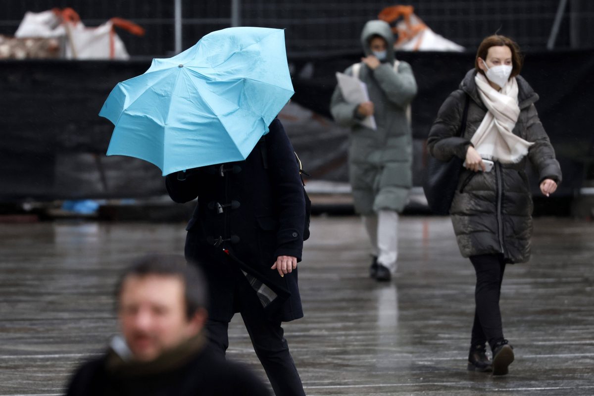
[[(465, 94), (464, 112), (460, 123), (459, 136), (464, 135), (466, 130), (466, 118), (468, 115), (468, 95)], [(429, 209), (435, 214), (445, 215), (450, 213), (451, 201), (454, 199), (460, 172), (462, 172), (463, 160), (454, 156), (449, 161), (440, 161), (434, 156), (429, 156), (425, 168), (423, 191), (429, 204)]]

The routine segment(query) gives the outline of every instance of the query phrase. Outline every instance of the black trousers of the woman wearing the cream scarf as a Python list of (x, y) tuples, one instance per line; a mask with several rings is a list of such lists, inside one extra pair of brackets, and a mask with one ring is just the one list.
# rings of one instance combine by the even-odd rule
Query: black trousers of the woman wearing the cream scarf
[(499, 299), (505, 261), (503, 255), (485, 254), (470, 256), (470, 262), (476, 271), (475, 320), (470, 345), (476, 347), (488, 342), (493, 350), (504, 339)]

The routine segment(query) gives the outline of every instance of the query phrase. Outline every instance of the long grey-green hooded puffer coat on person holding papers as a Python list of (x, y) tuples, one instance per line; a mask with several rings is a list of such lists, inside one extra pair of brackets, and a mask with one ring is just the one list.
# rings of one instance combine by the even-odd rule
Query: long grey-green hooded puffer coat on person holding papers
[[(410, 65), (399, 62), (394, 71), (394, 36), (384, 21), (369, 21), (361, 33), (365, 55), (371, 55), (369, 39), (378, 35), (387, 43), (386, 60), (375, 70), (362, 65), (359, 80), (367, 85), (374, 103), (377, 130), (369, 129), (356, 116), (358, 103), (347, 103), (336, 87), (330, 110), (339, 125), (351, 129), (349, 179), (353, 203), (360, 214), (379, 210), (402, 211), (412, 187), (412, 132), (407, 108), (416, 95)], [(345, 70), (353, 75), (353, 66)]]

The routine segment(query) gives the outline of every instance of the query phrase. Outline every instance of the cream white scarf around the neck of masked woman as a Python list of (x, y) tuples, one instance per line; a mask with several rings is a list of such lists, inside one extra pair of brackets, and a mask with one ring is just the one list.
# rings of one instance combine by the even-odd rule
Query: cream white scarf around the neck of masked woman
[(520, 115), (516, 78), (511, 78), (501, 91), (491, 87), (482, 73), (476, 74), (475, 83), (488, 112), (470, 142), (483, 159), (506, 164), (520, 162), (534, 143), (512, 132)]

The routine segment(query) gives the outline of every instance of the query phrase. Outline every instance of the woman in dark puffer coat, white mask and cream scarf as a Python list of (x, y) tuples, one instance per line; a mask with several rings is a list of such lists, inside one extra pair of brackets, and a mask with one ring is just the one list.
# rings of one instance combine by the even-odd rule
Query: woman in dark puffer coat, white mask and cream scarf
[[(476, 270), (475, 319), (469, 370), (502, 375), (514, 360), (503, 337), (499, 298), (505, 264), (530, 257), (532, 197), (524, 169), (538, 170), (542, 194), (555, 192), (561, 169), (538, 118), (538, 95), (520, 77), (522, 56), (513, 40), (489, 36), (479, 46), (475, 68), (441, 106), (428, 138), (441, 161), (465, 160), (450, 215), (462, 256)], [(467, 122), (459, 136), (465, 103)], [(486, 172), (485, 161), (494, 161)], [(491, 347), (492, 362), (485, 344)]]

